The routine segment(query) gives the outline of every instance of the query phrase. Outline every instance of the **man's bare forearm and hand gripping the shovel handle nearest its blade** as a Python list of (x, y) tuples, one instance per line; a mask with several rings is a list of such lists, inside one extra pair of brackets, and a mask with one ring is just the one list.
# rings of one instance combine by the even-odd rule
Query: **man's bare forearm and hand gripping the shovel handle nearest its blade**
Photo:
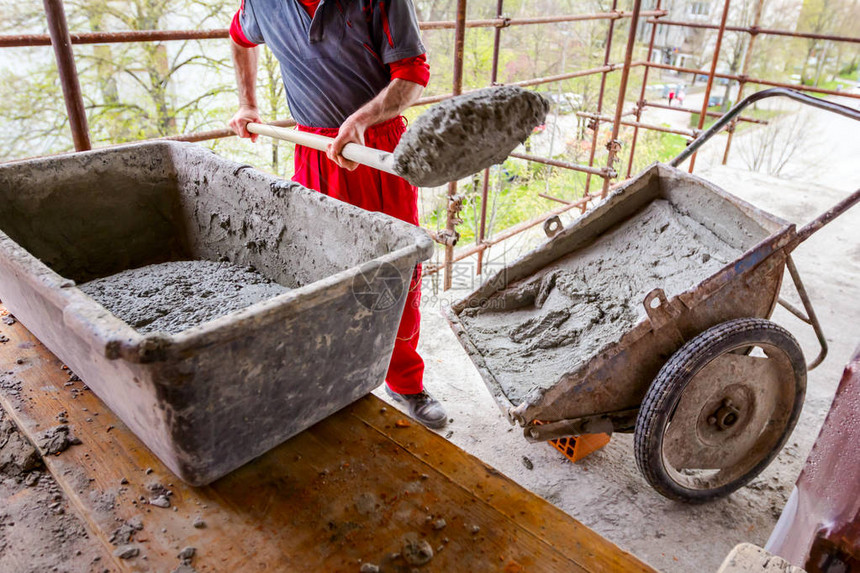
[(343, 147), (347, 143), (364, 145), (364, 132), (368, 127), (397, 117), (403, 110), (415, 103), (423, 91), (424, 86), (421, 84), (400, 78), (391, 80), (375, 98), (346, 118), (346, 121), (340, 126), (337, 137), (328, 146), (328, 158), (350, 171), (358, 167), (358, 163), (341, 155)]

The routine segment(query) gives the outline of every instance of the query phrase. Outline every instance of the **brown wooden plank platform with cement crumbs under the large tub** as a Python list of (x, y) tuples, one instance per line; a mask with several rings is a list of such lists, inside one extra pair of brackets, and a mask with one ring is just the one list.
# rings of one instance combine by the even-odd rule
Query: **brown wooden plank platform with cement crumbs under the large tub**
[[(434, 556), (422, 571), (652, 571), (440, 436), (400, 427), (403, 416), (372, 395), (190, 487), (20, 323), (2, 326), (3, 407), (33, 441), (66, 412), (82, 441), (46, 459), (70, 505), (108, 552), (123, 523), (143, 525), (131, 541), (140, 555), (116, 559), (119, 570), (171, 571), (192, 546), (200, 573), (411, 571), (402, 548), (426, 540)], [(148, 503), (158, 485), (172, 491), (170, 508)]]

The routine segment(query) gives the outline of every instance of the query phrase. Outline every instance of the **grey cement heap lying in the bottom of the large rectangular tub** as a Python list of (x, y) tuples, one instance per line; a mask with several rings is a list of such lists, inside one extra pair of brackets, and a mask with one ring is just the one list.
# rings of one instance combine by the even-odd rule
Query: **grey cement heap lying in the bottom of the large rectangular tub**
[(170, 334), (289, 290), (255, 270), (212, 261), (149, 265), (80, 289), (139, 332)]

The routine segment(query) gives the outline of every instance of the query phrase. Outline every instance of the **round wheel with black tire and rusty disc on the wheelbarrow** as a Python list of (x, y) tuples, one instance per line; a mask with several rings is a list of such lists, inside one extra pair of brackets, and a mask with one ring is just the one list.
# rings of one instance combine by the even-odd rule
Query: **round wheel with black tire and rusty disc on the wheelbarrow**
[(805, 393), (803, 352), (787, 330), (759, 318), (714, 326), (675, 352), (645, 394), (639, 471), (670, 499), (726, 496), (779, 453)]

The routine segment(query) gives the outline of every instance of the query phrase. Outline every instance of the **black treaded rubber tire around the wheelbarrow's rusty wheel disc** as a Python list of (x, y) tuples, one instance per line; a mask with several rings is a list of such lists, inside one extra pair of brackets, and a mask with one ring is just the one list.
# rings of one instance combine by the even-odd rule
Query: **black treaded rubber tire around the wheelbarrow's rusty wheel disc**
[[(724, 354), (738, 344), (768, 343), (780, 348), (788, 356), (794, 369), (795, 399), (791, 417), (773, 448), (749, 472), (736, 480), (713, 489), (690, 489), (673, 480), (663, 462), (663, 435), (671, 416), (675, 412), (681, 395), (689, 382), (711, 360)], [(651, 383), (634, 430), (636, 465), (648, 483), (663, 496), (687, 503), (705, 503), (725, 497), (743, 487), (764, 470), (782, 450), (791, 435), (803, 407), (806, 394), (806, 362), (803, 351), (790, 332), (760, 318), (741, 318), (714, 326), (699, 334), (682, 346), (660, 369)]]

